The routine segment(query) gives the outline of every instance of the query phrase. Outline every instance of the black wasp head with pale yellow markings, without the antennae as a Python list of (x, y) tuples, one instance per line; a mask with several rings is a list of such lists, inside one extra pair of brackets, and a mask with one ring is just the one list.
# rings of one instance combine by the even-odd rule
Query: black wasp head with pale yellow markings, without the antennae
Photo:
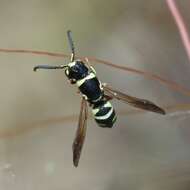
[(88, 67), (82, 61), (77, 60), (68, 64), (65, 74), (70, 80), (77, 81), (88, 75)]

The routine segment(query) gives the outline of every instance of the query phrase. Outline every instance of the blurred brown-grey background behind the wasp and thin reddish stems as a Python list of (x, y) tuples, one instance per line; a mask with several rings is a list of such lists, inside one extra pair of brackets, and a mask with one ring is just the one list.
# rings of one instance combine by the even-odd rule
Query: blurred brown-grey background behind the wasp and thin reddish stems
[[(190, 2), (178, 5), (188, 23)], [(190, 63), (164, 0), (0, 0), (0, 26), (2, 48), (70, 53), (66, 31), (71, 29), (78, 55), (149, 71), (190, 88)], [(189, 190), (188, 111), (122, 114), (111, 130), (91, 119), (79, 167), (73, 167), (80, 96), (63, 71), (32, 71), (37, 64), (68, 61), (0, 54), (0, 189)], [(94, 67), (101, 81), (160, 106), (190, 101), (159, 82)], [(118, 112), (134, 109), (113, 104)], [(67, 116), (73, 119), (56, 122)]]

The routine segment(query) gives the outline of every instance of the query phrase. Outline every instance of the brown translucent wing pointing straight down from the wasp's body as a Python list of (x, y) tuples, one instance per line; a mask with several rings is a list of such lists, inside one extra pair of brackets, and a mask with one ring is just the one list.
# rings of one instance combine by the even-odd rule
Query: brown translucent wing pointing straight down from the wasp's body
[(76, 136), (73, 142), (73, 164), (75, 167), (78, 166), (82, 147), (83, 147), (85, 136), (86, 136), (87, 115), (88, 115), (87, 102), (83, 98), (81, 102), (78, 128), (77, 128)]

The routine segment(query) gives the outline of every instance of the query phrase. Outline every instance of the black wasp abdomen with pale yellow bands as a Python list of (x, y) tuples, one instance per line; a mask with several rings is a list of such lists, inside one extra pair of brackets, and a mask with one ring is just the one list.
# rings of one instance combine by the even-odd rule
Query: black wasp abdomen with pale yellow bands
[(92, 113), (100, 127), (111, 128), (117, 119), (115, 110), (109, 101), (95, 104), (92, 108)]

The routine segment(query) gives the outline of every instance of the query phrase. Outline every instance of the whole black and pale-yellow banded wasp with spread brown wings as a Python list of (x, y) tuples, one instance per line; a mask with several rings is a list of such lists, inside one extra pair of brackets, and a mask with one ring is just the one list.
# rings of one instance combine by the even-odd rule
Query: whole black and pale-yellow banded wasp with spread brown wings
[(58, 66), (37, 65), (33, 70), (63, 69), (69, 82), (77, 85), (82, 95), (78, 128), (72, 146), (73, 164), (77, 167), (86, 136), (88, 103), (92, 108), (92, 115), (96, 123), (98, 126), (104, 128), (112, 128), (117, 120), (116, 112), (110, 102), (112, 99), (121, 100), (136, 108), (163, 115), (165, 111), (151, 101), (124, 94), (123, 92), (113, 89), (106, 83), (101, 83), (96, 75), (95, 69), (89, 64), (88, 59), (85, 61), (75, 59), (75, 48), (70, 30), (67, 31), (67, 37), (71, 49), (70, 63)]

